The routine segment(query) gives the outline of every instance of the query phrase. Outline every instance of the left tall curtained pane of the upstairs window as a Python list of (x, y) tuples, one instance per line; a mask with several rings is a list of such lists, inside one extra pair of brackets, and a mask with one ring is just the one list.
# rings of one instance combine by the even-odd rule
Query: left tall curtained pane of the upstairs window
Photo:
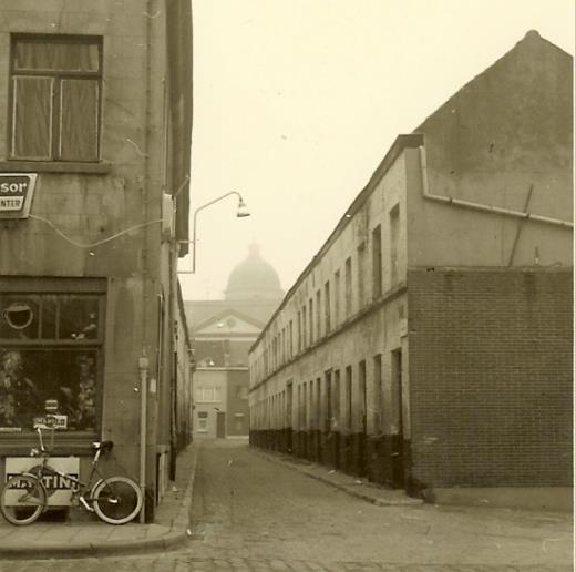
[(12, 156), (50, 159), (52, 80), (13, 79)]

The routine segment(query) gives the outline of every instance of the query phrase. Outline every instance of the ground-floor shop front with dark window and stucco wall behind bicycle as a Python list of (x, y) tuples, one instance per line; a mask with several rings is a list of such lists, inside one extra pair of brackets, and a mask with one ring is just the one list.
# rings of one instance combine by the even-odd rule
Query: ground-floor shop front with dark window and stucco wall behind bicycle
[[(53, 449), (51, 462), (81, 480), (92, 443), (110, 440), (101, 469), (136, 481), (152, 518), (174, 469), (175, 399), (185, 387), (174, 374), (171, 313), (162, 307), (168, 297), (158, 292), (153, 280), (134, 277), (0, 279), (3, 479), (33, 466), (38, 426)], [(189, 400), (189, 390), (181, 397)], [(70, 483), (47, 486), (52, 503), (68, 502)]]

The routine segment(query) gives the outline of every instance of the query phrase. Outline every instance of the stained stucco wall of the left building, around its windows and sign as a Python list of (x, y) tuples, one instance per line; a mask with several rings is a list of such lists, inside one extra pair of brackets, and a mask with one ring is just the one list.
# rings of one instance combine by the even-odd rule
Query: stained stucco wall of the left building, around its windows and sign
[[(163, 241), (161, 218), (172, 215), (162, 210), (163, 191), (174, 191), (181, 181), (173, 181), (179, 175), (172, 172), (166, 134), (169, 121), (182, 121), (178, 133), (185, 133), (191, 112), (179, 101), (182, 113), (168, 113), (165, 3), (6, 0), (0, 16), (0, 116), (4, 126), (10, 116), (11, 33), (103, 38), (97, 165), (8, 161), (9, 130), (0, 132), (0, 171), (39, 173), (31, 206), (31, 215), (38, 218), (0, 222), (0, 276), (107, 279), (102, 436), (115, 441), (124, 464), (137, 476), (137, 358), (145, 350), (150, 359), (147, 472), (154, 481), (156, 454), (164, 453), (171, 440), (171, 384), (176, 377), (172, 327), (176, 288), (171, 280), (175, 252)], [(177, 143), (172, 142), (173, 150)], [(188, 147), (176, 151), (186, 154)], [(186, 168), (187, 161), (175, 167), (178, 173)], [(182, 196), (186, 193), (184, 190)], [(182, 205), (187, 210), (187, 200)], [(123, 234), (88, 246), (117, 233)]]

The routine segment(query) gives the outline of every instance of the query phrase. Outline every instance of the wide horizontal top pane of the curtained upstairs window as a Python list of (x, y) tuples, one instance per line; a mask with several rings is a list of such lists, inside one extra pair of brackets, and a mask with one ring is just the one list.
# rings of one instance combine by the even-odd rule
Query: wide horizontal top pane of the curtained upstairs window
[(14, 70), (97, 72), (99, 45), (20, 40), (14, 48)]

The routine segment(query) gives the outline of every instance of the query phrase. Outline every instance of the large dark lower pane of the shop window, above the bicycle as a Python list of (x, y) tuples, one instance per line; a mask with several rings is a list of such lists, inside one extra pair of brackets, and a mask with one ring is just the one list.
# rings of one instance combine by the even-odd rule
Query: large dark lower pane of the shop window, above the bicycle
[(0, 427), (32, 430), (47, 399), (69, 430), (96, 429), (97, 351), (0, 347)]

